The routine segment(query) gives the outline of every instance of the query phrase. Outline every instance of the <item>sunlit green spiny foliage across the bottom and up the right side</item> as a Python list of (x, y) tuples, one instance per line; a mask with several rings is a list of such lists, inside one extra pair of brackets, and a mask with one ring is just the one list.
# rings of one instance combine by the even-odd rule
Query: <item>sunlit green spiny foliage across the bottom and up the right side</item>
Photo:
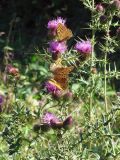
[[(112, 22), (118, 10), (110, 11), (110, 1), (104, 0), (109, 18), (103, 24), (94, 1), (82, 2), (91, 12), (88, 27), (92, 31), (92, 55), (81, 61), (79, 53), (70, 49), (62, 56), (65, 65), (74, 66), (69, 78), (72, 98), (54, 98), (43, 88), (52, 75), (50, 53), (37, 48), (18, 61), (9, 57), (14, 47), (4, 46), (4, 69), (0, 70), (0, 95), (4, 97), (0, 105), (0, 160), (120, 159), (120, 95), (111, 86), (113, 79), (120, 79), (120, 72), (109, 60), (119, 46), (117, 35), (110, 35), (111, 27), (119, 26), (119, 22)], [(53, 3), (57, 6), (60, 1)], [(97, 37), (98, 31), (101, 37)], [(6, 71), (10, 63), (19, 69), (17, 76)], [(46, 111), (62, 120), (72, 116), (72, 127), (35, 132), (34, 125), (41, 124)]]

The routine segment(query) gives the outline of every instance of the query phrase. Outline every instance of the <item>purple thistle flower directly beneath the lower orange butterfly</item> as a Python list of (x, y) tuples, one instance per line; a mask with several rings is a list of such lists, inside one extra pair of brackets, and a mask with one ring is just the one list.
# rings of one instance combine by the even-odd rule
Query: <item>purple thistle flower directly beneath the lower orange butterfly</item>
[(50, 82), (45, 83), (45, 88), (47, 89), (49, 93), (56, 93), (59, 91), (59, 88), (57, 88), (54, 84)]

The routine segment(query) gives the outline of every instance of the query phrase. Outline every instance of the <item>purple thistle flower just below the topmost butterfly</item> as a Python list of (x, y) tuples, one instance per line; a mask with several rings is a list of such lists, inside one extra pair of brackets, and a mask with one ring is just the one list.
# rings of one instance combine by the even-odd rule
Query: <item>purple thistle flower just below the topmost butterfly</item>
[(67, 50), (67, 46), (65, 42), (51, 41), (48, 50), (53, 54), (62, 54)]

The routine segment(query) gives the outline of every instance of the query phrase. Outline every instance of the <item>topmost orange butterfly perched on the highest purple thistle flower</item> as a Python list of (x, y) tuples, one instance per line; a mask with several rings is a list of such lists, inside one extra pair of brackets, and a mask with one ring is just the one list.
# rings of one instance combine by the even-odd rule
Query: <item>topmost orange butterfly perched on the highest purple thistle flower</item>
[(61, 23), (58, 24), (56, 32), (57, 32), (57, 39), (59, 41), (66, 41), (73, 36), (72, 31)]

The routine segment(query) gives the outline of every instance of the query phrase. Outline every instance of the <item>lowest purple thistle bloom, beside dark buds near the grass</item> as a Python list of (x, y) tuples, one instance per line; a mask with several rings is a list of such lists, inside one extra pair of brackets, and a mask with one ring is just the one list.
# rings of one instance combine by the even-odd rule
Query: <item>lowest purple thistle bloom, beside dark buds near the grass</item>
[(43, 123), (47, 123), (48, 125), (51, 126), (52, 122), (58, 123), (60, 122), (60, 120), (50, 112), (45, 113), (45, 115), (43, 116)]

